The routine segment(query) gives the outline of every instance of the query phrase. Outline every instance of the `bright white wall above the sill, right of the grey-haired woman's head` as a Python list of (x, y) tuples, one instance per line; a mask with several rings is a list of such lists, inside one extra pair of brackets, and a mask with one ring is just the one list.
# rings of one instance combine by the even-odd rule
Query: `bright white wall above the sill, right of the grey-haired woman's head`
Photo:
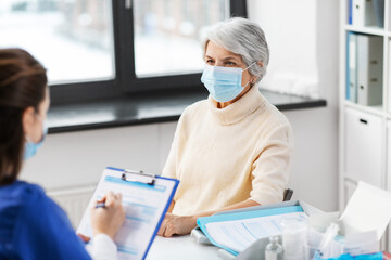
[(261, 87), (318, 96), (315, 0), (250, 0), (249, 17), (265, 31), (270, 61)]

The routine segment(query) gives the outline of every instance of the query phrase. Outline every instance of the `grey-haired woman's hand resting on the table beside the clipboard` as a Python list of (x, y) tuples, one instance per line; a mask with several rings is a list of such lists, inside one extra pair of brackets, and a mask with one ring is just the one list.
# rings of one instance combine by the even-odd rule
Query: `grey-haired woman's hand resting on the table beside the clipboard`
[(197, 226), (197, 217), (176, 216), (166, 213), (157, 235), (171, 237), (173, 235), (188, 235)]

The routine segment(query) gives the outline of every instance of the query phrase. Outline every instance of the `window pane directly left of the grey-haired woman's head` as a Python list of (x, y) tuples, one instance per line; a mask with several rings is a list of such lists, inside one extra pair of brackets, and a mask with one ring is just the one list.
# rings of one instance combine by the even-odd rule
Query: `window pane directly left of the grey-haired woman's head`
[(199, 73), (200, 37), (229, 18), (228, 0), (134, 0), (137, 77)]

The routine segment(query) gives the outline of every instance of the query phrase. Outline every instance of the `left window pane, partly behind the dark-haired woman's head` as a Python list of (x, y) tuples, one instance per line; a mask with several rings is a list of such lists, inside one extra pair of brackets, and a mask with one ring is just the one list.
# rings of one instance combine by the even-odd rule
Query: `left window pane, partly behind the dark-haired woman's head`
[(30, 52), (50, 83), (115, 77), (111, 0), (1, 0), (0, 47)]

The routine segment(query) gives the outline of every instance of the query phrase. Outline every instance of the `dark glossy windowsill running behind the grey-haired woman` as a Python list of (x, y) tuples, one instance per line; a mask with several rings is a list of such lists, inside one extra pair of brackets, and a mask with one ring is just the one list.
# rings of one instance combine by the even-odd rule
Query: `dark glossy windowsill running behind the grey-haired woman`
[[(325, 100), (261, 90), (281, 110), (326, 106)], [(80, 104), (53, 105), (48, 115), (49, 133), (94, 130), (178, 120), (184, 109), (206, 99), (204, 88), (184, 92), (134, 94)]]

